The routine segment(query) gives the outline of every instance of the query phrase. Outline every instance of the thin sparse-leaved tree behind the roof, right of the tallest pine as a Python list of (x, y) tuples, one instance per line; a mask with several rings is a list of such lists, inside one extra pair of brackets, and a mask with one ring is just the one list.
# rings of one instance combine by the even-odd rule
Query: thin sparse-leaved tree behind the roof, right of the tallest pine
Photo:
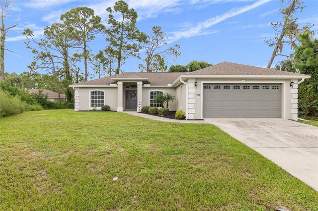
[[(164, 59), (167, 55), (172, 55), (173, 60), (179, 56), (180, 49), (179, 45), (173, 45), (167, 48), (166, 34), (162, 31), (160, 26), (154, 26), (150, 36), (147, 36), (145, 50), (146, 58), (144, 59), (145, 64), (139, 64), (139, 68), (146, 72), (158, 72), (166, 71), (167, 66), (165, 65)], [(164, 48), (164, 49), (162, 49)]]

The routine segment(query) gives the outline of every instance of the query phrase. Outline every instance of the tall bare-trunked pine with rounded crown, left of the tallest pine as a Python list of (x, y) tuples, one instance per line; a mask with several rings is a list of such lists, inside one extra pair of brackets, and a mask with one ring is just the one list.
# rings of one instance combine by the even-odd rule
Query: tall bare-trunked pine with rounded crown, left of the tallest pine
[(67, 26), (73, 27), (72, 37), (82, 45), (82, 53), (76, 55), (84, 58), (85, 81), (87, 81), (87, 59), (90, 53), (87, 43), (94, 40), (94, 35), (104, 30), (105, 26), (101, 24), (101, 18), (94, 15), (94, 10), (88, 7), (73, 8), (61, 15), (61, 20)]

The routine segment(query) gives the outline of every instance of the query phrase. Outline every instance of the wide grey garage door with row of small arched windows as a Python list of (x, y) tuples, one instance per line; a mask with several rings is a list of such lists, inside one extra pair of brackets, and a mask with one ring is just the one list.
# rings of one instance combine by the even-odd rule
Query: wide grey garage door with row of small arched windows
[(203, 117), (281, 117), (280, 84), (204, 84)]

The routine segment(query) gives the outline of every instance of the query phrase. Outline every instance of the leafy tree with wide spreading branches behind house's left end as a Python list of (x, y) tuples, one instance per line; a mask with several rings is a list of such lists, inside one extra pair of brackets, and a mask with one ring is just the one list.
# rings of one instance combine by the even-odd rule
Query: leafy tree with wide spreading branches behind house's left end
[[(28, 66), (31, 70), (44, 69), (48, 74), (56, 74), (61, 77), (62, 86), (65, 89), (66, 99), (69, 102), (73, 100), (73, 89), (69, 87), (73, 83), (72, 71), (74, 71), (77, 59), (70, 55), (71, 50), (75, 50), (79, 45), (72, 35), (74, 29), (65, 24), (53, 23), (50, 27), (44, 29), (45, 39), (39, 42), (34, 40), (33, 32), (26, 29), (23, 35), (26, 36), (27, 48), (32, 50), (34, 61)], [(31, 47), (31, 43), (36, 47)], [(59, 85), (57, 84), (59, 87)], [(59, 89), (58, 89), (59, 93)]]

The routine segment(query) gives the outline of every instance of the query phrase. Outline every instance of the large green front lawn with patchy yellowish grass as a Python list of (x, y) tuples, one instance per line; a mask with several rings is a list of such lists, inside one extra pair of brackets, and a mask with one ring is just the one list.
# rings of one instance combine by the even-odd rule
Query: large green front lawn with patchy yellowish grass
[(318, 209), (315, 190), (210, 124), (67, 110), (0, 121), (0, 210)]

